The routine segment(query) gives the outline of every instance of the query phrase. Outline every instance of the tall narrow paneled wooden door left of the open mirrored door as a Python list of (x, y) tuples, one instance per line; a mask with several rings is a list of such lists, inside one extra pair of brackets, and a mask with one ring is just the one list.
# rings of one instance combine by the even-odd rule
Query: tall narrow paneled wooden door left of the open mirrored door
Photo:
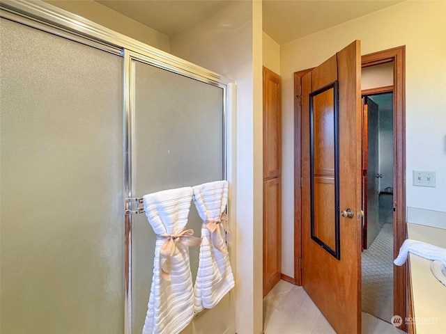
[(281, 117), (280, 77), (263, 67), (263, 296), (282, 271)]

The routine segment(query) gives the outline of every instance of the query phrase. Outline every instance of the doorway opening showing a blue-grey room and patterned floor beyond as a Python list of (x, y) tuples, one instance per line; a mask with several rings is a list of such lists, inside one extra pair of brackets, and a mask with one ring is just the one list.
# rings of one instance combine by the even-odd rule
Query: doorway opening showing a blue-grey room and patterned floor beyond
[(362, 95), (362, 105), (362, 311), (390, 322), (394, 315), (393, 89)]

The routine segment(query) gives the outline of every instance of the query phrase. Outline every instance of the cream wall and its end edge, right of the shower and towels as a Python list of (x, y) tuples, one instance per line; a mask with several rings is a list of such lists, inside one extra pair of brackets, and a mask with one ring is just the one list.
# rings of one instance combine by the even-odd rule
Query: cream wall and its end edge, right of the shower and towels
[[(171, 38), (171, 54), (236, 82), (237, 112), (229, 120), (229, 220), (236, 233), (230, 244), (236, 288), (236, 328), (227, 333), (262, 331), (262, 74), (261, 2), (229, 1), (221, 10)], [(234, 304), (232, 304), (234, 305)], [(212, 311), (212, 310), (211, 310)], [(208, 312), (210, 320), (228, 319), (228, 310)], [(230, 319), (232, 321), (232, 319)], [(199, 324), (197, 333), (206, 331)]]

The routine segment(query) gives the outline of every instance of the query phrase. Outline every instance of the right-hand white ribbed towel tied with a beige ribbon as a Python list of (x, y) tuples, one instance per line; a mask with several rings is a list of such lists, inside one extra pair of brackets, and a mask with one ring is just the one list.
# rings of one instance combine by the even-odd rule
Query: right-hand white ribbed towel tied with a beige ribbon
[(200, 312), (203, 308), (213, 308), (234, 287), (225, 243), (225, 231), (229, 230), (224, 215), (228, 202), (228, 182), (208, 182), (193, 186), (192, 189), (194, 204), (203, 220), (199, 266), (194, 287), (195, 311)]

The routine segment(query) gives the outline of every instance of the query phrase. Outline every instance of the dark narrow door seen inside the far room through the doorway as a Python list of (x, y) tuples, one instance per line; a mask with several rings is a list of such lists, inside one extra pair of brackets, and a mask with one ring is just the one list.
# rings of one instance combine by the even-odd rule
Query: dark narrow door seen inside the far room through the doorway
[(379, 230), (378, 104), (364, 97), (362, 131), (362, 248), (369, 248)]

